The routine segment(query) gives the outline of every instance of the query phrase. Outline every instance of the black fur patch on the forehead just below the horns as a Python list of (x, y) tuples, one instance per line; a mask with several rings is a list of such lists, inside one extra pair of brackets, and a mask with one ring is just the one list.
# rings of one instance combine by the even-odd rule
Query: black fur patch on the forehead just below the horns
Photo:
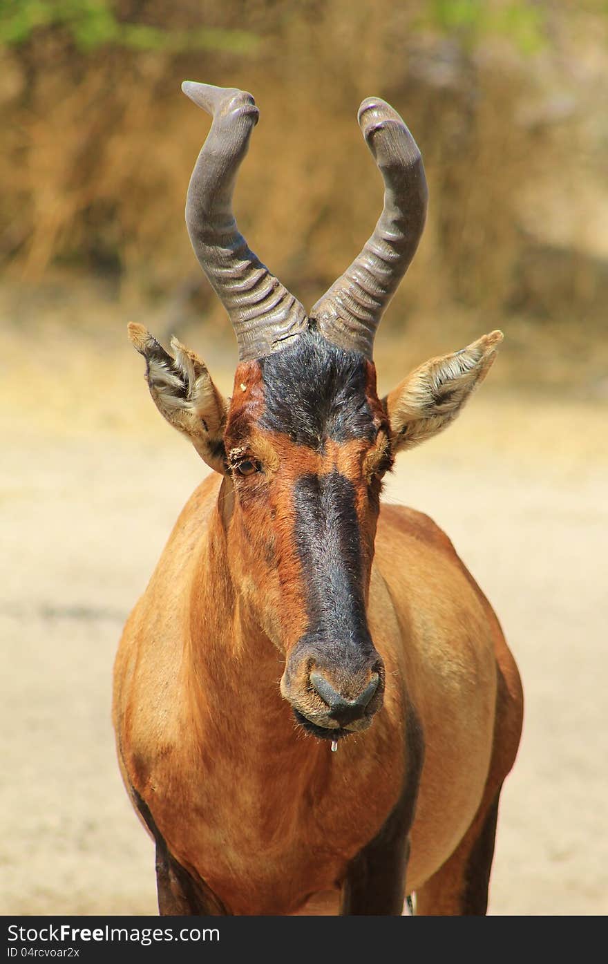
[(306, 332), (262, 359), (260, 366), (265, 402), (261, 428), (315, 449), (327, 439), (376, 438), (366, 397), (367, 362), (358, 352), (346, 352), (316, 332)]

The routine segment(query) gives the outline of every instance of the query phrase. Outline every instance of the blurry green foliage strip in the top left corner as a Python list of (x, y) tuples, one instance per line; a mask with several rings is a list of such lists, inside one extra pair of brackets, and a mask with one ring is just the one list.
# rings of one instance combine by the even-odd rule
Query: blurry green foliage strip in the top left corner
[(195, 27), (164, 30), (117, 19), (111, 0), (0, 0), (0, 44), (15, 46), (41, 28), (66, 31), (88, 52), (107, 44), (134, 50), (226, 50), (250, 53), (258, 38), (246, 30)]

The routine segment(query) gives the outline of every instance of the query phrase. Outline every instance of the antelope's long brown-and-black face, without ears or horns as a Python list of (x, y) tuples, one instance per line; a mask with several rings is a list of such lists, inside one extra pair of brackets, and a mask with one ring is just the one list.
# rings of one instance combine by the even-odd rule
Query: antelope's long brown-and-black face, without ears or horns
[[(338, 374), (331, 362), (344, 353), (324, 360), (319, 343), (311, 351), (323, 369), (317, 374), (330, 385), (327, 417), (307, 424), (304, 412), (298, 424), (298, 415), (282, 422), (277, 411), (269, 416), (271, 393), (293, 388), (282, 384), (276, 369), (283, 365), (247, 362), (237, 368), (224, 436), (226, 484), (233, 495), (225, 524), (242, 598), (286, 658), (283, 696), (317, 736), (338, 738), (366, 729), (382, 706), (383, 664), (365, 609), (381, 477), (392, 459), (373, 364), (351, 359), (346, 377), (352, 391), (331, 398)], [(305, 388), (303, 395), (305, 409)], [(292, 401), (297, 409), (303, 397)], [(324, 571), (324, 557), (333, 575)], [(319, 674), (324, 697), (311, 683)], [(367, 703), (357, 707), (366, 691)], [(333, 715), (332, 699), (339, 704)]]

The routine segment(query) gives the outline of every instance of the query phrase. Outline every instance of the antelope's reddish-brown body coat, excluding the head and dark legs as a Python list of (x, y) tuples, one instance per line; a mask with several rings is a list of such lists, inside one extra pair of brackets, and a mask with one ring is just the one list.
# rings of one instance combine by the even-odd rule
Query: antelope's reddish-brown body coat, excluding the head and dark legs
[[(206, 479), (184, 509), (125, 629), (115, 702), (125, 782), (145, 800), (173, 856), (232, 913), (297, 912), (310, 895), (337, 888), (399, 796), (405, 679), (427, 735), (410, 857), (410, 887), (420, 890), (475, 816), (489, 773), (498, 786), (515, 755), (520, 694), (512, 657), (493, 621), (480, 643), (471, 629), (463, 632), (473, 620), (479, 633), (487, 603), (432, 522), (384, 506), (369, 603), (386, 666), (384, 706), (367, 733), (330, 754), (327, 742), (296, 731), (278, 690), (282, 658), (251, 612), (239, 606), (229, 616), (218, 489), (217, 477)], [(434, 643), (444, 651), (443, 679), (414, 617), (437, 585), (452, 601)], [(498, 706), (512, 719), (506, 749), (502, 733), (492, 746), (494, 658), (514, 697)], [(450, 719), (463, 700), (459, 729)]]

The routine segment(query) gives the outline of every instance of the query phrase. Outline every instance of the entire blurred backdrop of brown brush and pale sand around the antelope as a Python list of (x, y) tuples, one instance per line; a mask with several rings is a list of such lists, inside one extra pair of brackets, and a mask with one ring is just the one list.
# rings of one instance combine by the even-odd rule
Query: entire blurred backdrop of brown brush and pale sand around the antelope
[(179, 335), (226, 392), (236, 362), (183, 220), (209, 128), (184, 79), (255, 96), (239, 227), (305, 308), (381, 210), (359, 102), (410, 126), (429, 219), (377, 337), (381, 389), (505, 333), (470, 411), (387, 490), (447, 529), (526, 684), (491, 911), (608, 912), (607, 41), (606, 0), (2, 0), (4, 913), (154, 912), (111, 665), (205, 468), (153, 410), (126, 323)]

